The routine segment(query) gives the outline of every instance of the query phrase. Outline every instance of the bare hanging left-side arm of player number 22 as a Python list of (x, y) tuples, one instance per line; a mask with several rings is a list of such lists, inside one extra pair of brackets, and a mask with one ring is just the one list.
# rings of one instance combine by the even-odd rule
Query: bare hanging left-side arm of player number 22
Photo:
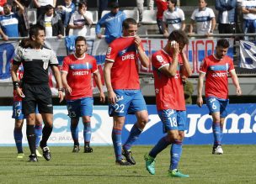
[(113, 62), (110, 62), (109, 60), (105, 61), (105, 65), (104, 65), (104, 80), (105, 80), (105, 84), (108, 90), (108, 100), (109, 103), (114, 104), (115, 103), (115, 99), (116, 99), (116, 95), (115, 92), (112, 88), (111, 85), (111, 68), (113, 66)]

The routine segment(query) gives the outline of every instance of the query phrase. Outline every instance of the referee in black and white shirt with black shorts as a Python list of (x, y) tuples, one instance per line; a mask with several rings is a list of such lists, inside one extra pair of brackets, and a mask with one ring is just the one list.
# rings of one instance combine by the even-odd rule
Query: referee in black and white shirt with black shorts
[[(51, 160), (51, 152), (47, 146), (52, 131), (53, 123), (53, 107), (51, 99), (51, 89), (48, 85), (48, 68), (56, 78), (58, 97), (60, 102), (63, 100), (61, 74), (58, 69), (58, 60), (53, 50), (45, 46), (45, 28), (35, 25), (29, 29), (29, 46), (16, 50), (13, 57), (13, 66), (11, 69), (13, 88), (20, 97), (23, 97), (23, 113), (27, 120), (27, 139), (29, 142), (29, 161), (35, 162), (37, 156), (35, 154), (35, 107), (38, 109), (44, 120), (42, 140), (40, 148), (43, 150), (45, 160)], [(24, 66), (24, 77), (21, 88), (19, 88), (17, 70), (20, 63)]]

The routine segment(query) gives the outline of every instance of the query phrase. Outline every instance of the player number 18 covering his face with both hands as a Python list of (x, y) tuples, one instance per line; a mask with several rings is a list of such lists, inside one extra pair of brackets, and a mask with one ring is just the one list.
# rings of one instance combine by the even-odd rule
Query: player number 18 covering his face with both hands
[(190, 76), (192, 73), (184, 54), (184, 46), (188, 43), (189, 39), (184, 31), (173, 30), (163, 50), (158, 50), (152, 55), (157, 113), (163, 123), (163, 133), (167, 133), (148, 154), (144, 155), (147, 171), (152, 175), (156, 172), (157, 155), (168, 145), (172, 145), (168, 175), (189, 177), (177, 170), (182, 153), (184, 130), (187, 128), (181, 76)]

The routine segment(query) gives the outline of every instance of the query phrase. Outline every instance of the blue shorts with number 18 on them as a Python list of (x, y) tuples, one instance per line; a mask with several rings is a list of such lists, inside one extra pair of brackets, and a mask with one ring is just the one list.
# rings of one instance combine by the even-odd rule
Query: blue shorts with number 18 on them
[(163, 133), (170, 130), (184, 131), (187, 129), (186, 111), (166, 109), (157, 111), (157, 113), (163, 123)]

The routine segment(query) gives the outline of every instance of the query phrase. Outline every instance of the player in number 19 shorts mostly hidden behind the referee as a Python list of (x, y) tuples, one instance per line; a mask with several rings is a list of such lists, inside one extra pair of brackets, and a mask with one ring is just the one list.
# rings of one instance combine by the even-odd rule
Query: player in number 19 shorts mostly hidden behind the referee
[[(19, 50), (20, 48), (26, 48), (28, 47), (28, 45), (29, 45), (29, 39), (21, 39), (17, 50)], [(21, 86), (20, 82), (23, 77), (23, 71), (24, 71), (23, 66), (20, 65), (17, 71), (19, 86)], [(16, 90), (13, 90), (12, 118), (15, 119), (13, 135), (14, 135), (16, 148), (18, 150), (17, 159), (23, 159), (24, 152), (22, 147), (22, 139), (23, 139), (22, 127), (24, 124), (24, 114), (22, 113), (22, 97), (19, 97)], [(39, 147), (41, 136), (42, 136), (42, 122), (43, 122), (42, 116), (40, 115), (40, 113), (38, 113), (38, 110), (37, 110), (35, 115), (35, 148), (36, 148), (36, 155), (38, 157), (42, 157), (42, 155), (40, 155), (39, 150), (37, 150), (37, 148)]]

